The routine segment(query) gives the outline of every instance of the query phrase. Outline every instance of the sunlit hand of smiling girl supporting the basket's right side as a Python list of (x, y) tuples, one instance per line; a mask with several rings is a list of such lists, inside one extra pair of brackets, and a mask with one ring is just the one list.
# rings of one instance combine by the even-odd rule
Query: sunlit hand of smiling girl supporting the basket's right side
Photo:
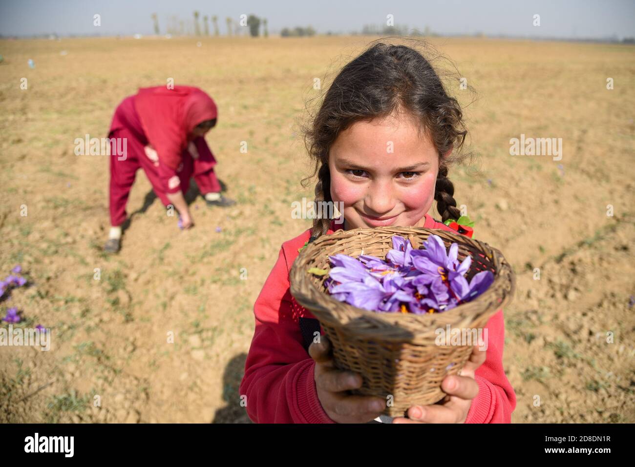
[(487, 350), (472, 349), (469, 360), (458, 373), (441, 381), (441, 389), (448, 395), (432, 405), (413, 405), (408, 409), (408, 418), (395, 418), (392, 423), (465, 423), (472, 399), (478, 395), (478, 383), (474, 372), (485, 362)]

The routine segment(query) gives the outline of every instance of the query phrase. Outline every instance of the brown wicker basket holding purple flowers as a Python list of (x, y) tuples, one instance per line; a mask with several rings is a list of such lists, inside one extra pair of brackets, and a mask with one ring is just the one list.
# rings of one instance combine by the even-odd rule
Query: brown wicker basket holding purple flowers
[[(441, 237), (446, 247), (456, 242), (459, 260), (472, 257), (465, 275), (468, 281), (486, 269), (494, 273), (485, 293), (443, 313), (371, 312), (330, 296), (323, 286), (328, 275), (307, 272), (312, 267), (330, 270), (328, 256), (338, 253), (385, 258), (393, 235), (410, 239), (418, 249), (431, 234)], [(436, 345), (436, 329), (448, 324), (460, 329), (485, 327), (511, 301), (515, 289), (514, 273), (497, 249), (464, 235), (418, 227), (356, 228), (323, 235), (300, 251), (290, 280), (291, 294), (313, 313), (330, 339), (335, 366), (363, 377), (363, 386), (351, 393), (387, 398), (392, 404), (387, 404), (384, 414), (392, 417), (404, 416), (412, 405), (443, 399), (441, 381), (457, 374), (469, 358), (471, 346)]]

